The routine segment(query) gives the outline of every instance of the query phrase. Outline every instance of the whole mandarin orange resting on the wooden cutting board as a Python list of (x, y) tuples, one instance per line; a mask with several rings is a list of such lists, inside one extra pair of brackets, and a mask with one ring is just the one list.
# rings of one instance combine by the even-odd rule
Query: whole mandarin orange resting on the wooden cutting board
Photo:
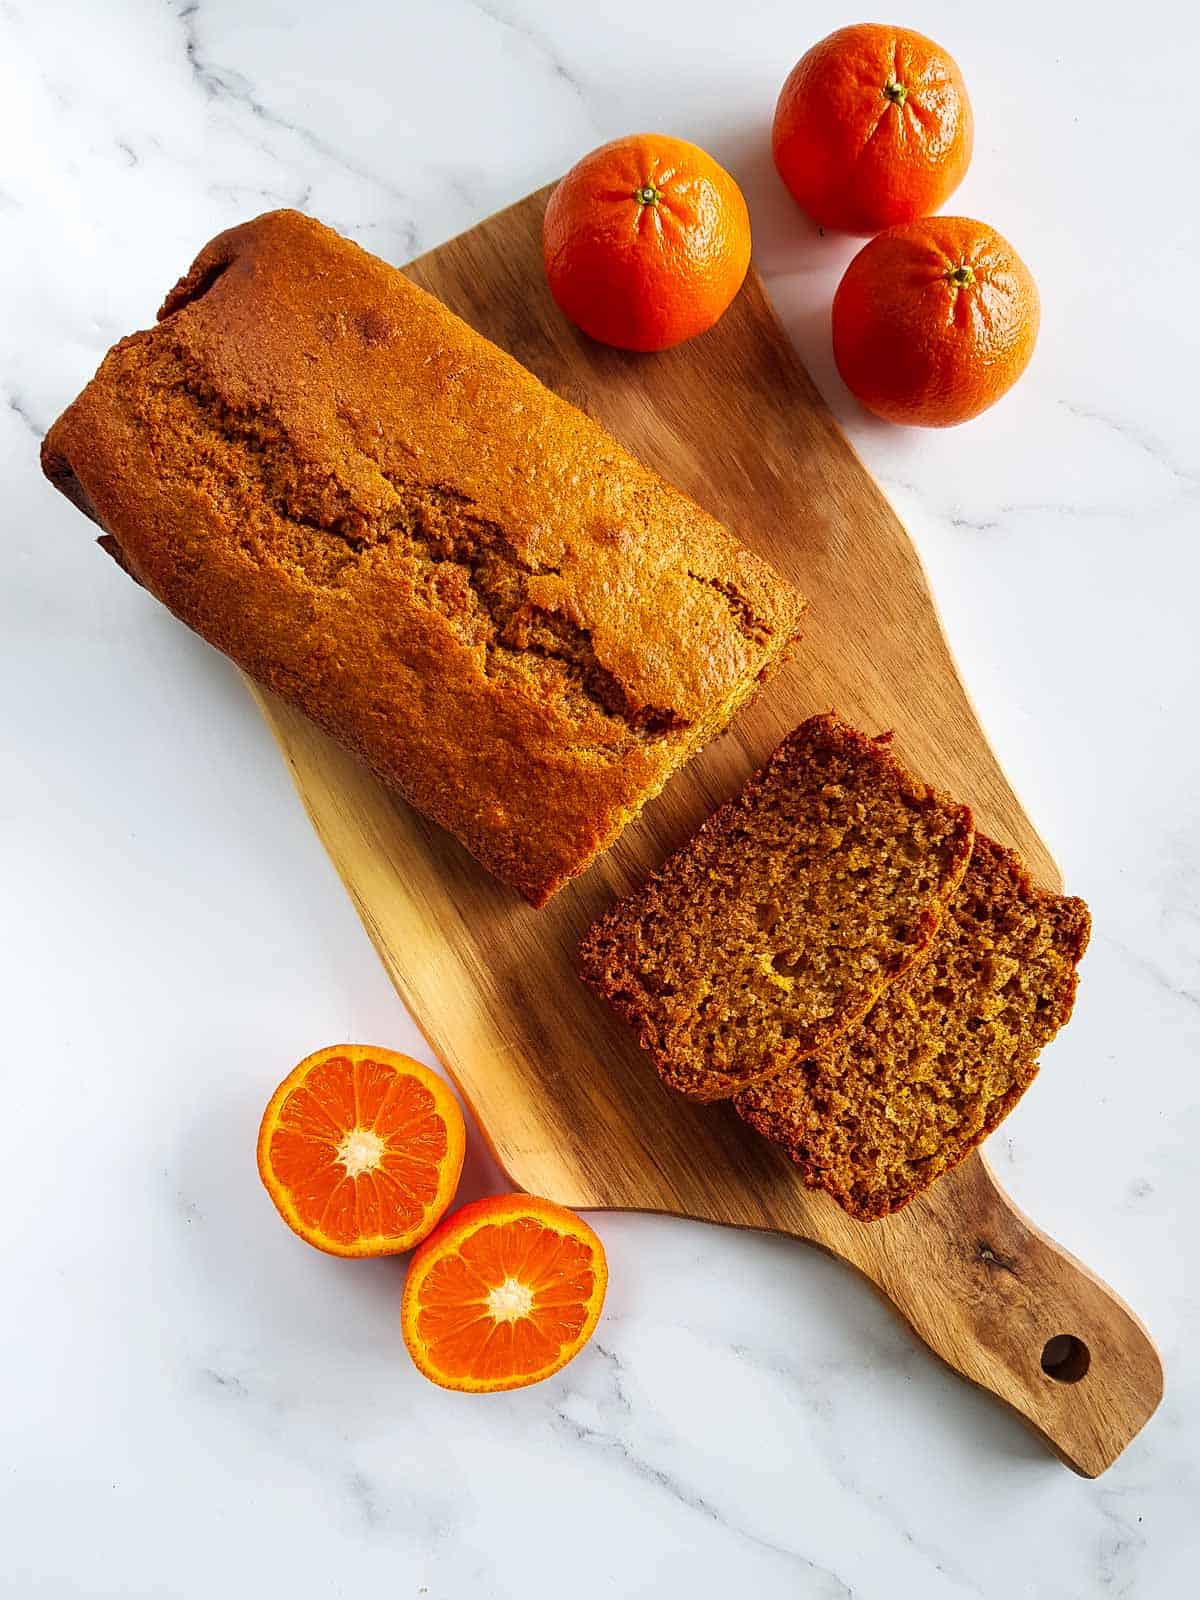
[(550, 293), (603, 344), (666, 350), (710, 328), (750, 264), (738, 184), (694, 144), (635, 133), (592, 150), (550, 195)]

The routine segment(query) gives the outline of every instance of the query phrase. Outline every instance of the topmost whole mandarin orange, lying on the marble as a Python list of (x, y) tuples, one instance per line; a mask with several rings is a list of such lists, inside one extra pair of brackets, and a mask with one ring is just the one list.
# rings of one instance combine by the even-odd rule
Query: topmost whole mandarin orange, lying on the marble
[(774, 110), (774, 165), (822, 227), (877, 234), (946, 205), (974, 123), (954, 59), (907, 27), (840, 27), (792, 69)]

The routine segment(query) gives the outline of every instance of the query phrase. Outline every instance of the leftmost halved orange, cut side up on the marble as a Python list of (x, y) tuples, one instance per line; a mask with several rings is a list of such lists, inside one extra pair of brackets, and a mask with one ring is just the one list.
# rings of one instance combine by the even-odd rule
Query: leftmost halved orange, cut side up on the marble
[(307, 1056), (270, 1098), (258, 1170), (278, 1214), (333, 1256), (411, 1250), (454, 1198), (467, 1130), (450, 1086), (376, 1045)]

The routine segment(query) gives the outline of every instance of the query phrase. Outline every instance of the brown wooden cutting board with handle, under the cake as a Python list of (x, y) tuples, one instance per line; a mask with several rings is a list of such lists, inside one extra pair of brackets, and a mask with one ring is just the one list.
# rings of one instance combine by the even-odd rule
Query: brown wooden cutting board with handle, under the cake
[[(1043, 885), (1061, 883), (958, 682), (917, 552), (757, 275), (701, 339), (653, 357), (603, 349), (568, 326), (544, 286), (547, 194), (422, 256), (410, 277), (787, 573), (811, 608), (798, 654), (539, 912), (298, 712), (258, 698), (395, 987), (515, 1186), (576, 1208), (666, 1211), (821, 1245), (1070, 1467), (1096, 1475), (1158, 1403), (1158, 1357), (1133, 1312), (1013, 1208), (978, 1155), (898, 1216), (853, 1222), (728, 1106), (669, 1094), (574, 978), (590, 918), (784, 733), (830, 706), (872, 733), (894, 728), (917, 773), (968, 800)], [(470, 741), (470, 728), (459, 734)]]

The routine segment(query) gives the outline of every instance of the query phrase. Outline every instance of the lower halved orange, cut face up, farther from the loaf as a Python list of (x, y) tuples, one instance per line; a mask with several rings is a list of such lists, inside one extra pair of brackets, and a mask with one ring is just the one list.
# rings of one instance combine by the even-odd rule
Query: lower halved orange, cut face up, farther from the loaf
[(491, 1195), (446, 1218), (408, 1264), (400, 1326), (418, 1368), (464, 1394), (549, 1378), (592, 1338), (605, 1246), (573, 1211)]

